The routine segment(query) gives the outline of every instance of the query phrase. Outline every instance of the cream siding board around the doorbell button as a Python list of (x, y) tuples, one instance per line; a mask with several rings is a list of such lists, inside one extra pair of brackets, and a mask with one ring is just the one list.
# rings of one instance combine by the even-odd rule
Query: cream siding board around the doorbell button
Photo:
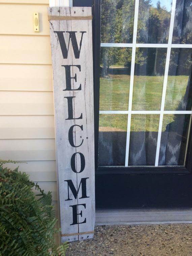
[[(49, 35), (47, 5), (0, 4), (0, 34), (4, 35)], [(34, 31), (33, 12), (39, 12), (39, 32)]]

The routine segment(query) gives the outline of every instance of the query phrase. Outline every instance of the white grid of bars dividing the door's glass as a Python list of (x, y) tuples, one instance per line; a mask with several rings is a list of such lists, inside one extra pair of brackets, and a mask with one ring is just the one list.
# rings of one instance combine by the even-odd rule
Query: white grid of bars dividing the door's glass
[[(159, 43), (149, 43), (149, 44), (148, 43), (136, 43), (136, 40), (137, 40), (137, 22), (138, 22), (138, 12), (139, 12), (139, 0), (135, 0), (134, 24), (133, 24), (133, 43), (101, 43), (101, 47), (130, 47), (130, 48), (132, 48), (128, 110), (100, 110), (99, 111), (99, 114), (127, 114), (128, 115), (128, 118), (127, 118), (127, 138), (126, 138), (125, 167), (128, 166), (128, 162), (129, 162), (129, 143), (130, 143), (130, 129), (131, 129), (131, 115), (132, 114), (145, 114), (145, 115), (146, 114), (159, 114), (160, 115), (160, 117), (159, 117), (159, 129), (158, 129), (158, 136), (157, 136), (155, 166), (158, 166), (158, 162), (159, 162), (159, 152), (160, 152), (160, 143), (161, 143), (161, 131), (162, 131), (162, 124), (163, 124), (163, 115), (164, 114), (174, 114), (174, 115), (175, 114), (192, 114), (191, 110), (190, 111), (187, 111), (187, 110), (183, 110), (183, 111), (179, 111), (179, 110), (167, 111), (167, 110), (164, 110), (171, 48), (192, 48), (192, 44), (172, 44), (172, 34), (173, 34), (173, 26), (174, 26), (176, 1), (177, 0), (172, 0), (168, 43), (164, 43), (164, 44), (159, 44)], [(136, 53), (136, 48), (137, 47), (167, 48), (160, 110), (132, 110), (135, 53)]]

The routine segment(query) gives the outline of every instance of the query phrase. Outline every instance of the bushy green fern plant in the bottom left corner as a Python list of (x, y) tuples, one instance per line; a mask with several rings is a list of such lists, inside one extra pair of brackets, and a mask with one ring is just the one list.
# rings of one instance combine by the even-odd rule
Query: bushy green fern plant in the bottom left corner
[(3, 167), (7, 162), (15, 163), (0, 160), (0, 256), (65, 256), (68, 245), (55, 245), (59, 230), (51, 192), (44, 193), (18, 168)]

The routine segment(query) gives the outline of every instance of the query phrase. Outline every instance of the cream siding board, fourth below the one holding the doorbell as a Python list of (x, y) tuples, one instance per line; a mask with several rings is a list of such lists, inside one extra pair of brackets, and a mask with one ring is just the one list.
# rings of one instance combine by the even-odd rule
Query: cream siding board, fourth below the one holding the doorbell
[(54, 116), (0, 116), (0, 139), (55, 138)]

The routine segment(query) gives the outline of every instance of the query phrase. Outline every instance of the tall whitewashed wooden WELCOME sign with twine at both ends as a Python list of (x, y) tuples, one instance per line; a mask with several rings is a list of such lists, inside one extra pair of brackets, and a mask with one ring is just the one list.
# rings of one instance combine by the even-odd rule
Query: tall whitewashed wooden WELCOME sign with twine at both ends
[(62, 242), (95, 224), (91, 7), (49, 7)]

